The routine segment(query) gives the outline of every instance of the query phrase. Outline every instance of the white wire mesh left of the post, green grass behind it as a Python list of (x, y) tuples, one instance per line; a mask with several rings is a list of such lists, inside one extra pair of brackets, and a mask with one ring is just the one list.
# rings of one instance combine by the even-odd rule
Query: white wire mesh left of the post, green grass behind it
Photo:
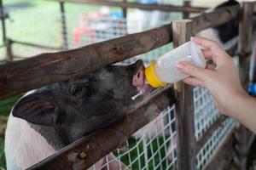
[[(107, 167), (113, 161), (122, 161), (125, 169), (175, 169), (176, 131), (174, 105), (166, 108), (153, 122), (148, 123), (135, 133), (121, 149), (113, 151), (112, 160), (106, 156), (102, 167)], [(96, 165), (93, 166), (96, 169)], [(119, 169), (121, 163), (119, 163)]]

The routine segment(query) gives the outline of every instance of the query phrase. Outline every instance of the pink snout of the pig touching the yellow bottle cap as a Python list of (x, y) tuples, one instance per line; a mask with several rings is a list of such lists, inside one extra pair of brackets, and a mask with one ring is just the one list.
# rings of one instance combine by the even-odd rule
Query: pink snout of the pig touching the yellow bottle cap
[(144, 85), (144, 77), (145, 77), (145, 66), (143, 65), (142, 60), (138, 60), (136, 62), (136, 65), (138, 67), (137, 73), (132, 77), (132, 85), (137, 88), (137, 91), (141, 91)]

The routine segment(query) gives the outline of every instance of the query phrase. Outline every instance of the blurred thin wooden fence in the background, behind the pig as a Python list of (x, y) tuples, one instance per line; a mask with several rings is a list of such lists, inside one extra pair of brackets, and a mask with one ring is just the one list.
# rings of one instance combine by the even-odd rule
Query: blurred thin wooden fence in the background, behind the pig
[(183, 17), (188, 17), (189, 13), (200, 13), (207, 8), (202, 7), (190, 7), (189, 3), (184, 1), (183, 6), (176, 5), (166, 5), (166, 4), (143, 4), (143, 3), (127, 3), (127, 2), (114, 2), (114, 1), (105, 1), (105, 0), (56, 0), (60, 3), (60, 12), (61, 12), (61, 30), (62, 30), (62, 39), (63, 44), (61, 47), (50, 47), (49, 45), (42, 45), (32, 42), (22, 42), (15, 39), (10, 39), (6, 36), (6, 24), (5, 20), (9, 18), (9, 14), (5, 14), (3, 8), (3, 2), (0, 1), (0, 19), (2, 23), (2, 33), (3, 33), (3, 44), (0, 45), (0, 48), (6, 48), (6, 61), (11, 61), (15, 57), (19, 58), (20, 56), (15, 56), (13, 54), (13, 45), (20, 44), (28, 47), (35, 48), (44, 48), (44, 49), (53, 49), (53, 50), (67, 50), (68, 49), (68, 39), (67, 39), (67, 20), (66, 20), (66, 10), (65, 3), (83, 3), (87, 5), (105, 5), (109, 7), (119, 7), (123, 9), (123, 15), (126, 18), (127, 8), (141, 8), (146, 10), (159, 10), (166, 12), (183, 12)]

